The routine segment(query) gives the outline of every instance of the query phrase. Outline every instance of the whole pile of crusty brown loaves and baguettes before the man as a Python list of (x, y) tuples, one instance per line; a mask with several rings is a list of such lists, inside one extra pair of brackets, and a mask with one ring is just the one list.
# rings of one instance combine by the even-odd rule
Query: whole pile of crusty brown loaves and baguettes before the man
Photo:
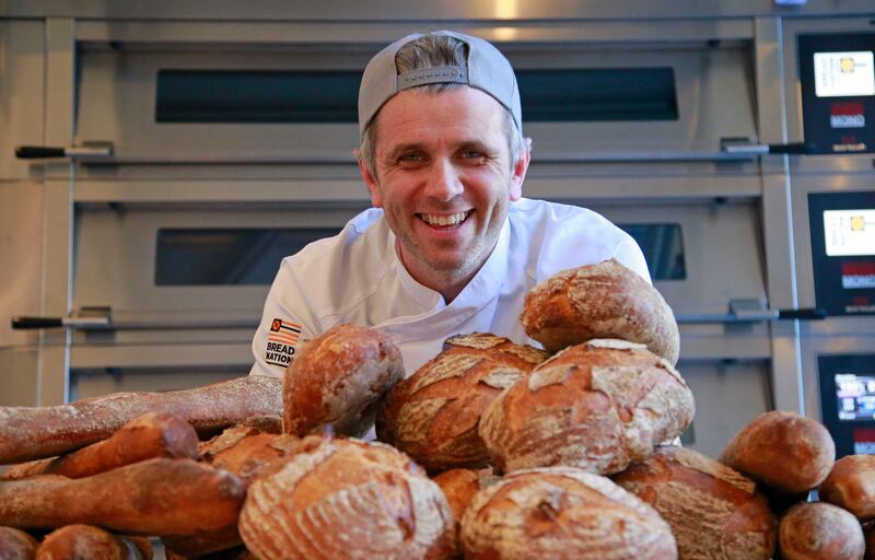
[(637, 275), (564, 271), (521, 322), (544, 350), (458, 335), (407, 378), (341, 325), (284, 380), (0, 408), (0, 463), (30, 462), (0, 475), (0, 559), (863, 558), (875, 460), (833, 466), (819, 423), (678, 446), (677, 325)]

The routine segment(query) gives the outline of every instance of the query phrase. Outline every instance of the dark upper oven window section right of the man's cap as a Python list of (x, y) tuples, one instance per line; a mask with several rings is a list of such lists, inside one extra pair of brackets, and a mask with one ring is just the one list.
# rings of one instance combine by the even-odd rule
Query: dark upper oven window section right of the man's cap
[(677, 120), (672, 68), (517, 70), (524, 122)]

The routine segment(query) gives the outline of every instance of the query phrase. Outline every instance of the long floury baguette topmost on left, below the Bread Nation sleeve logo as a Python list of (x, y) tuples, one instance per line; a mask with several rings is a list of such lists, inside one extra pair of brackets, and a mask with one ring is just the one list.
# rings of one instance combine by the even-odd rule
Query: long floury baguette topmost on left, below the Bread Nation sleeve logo
[(115, 393), (54, 407), (0, 407), (0, 465), (106, 440), (145, 412), (170, 412), (211, 433), (250, 416), (282, 415), (282, 380), (250, 375), (167, 393)]

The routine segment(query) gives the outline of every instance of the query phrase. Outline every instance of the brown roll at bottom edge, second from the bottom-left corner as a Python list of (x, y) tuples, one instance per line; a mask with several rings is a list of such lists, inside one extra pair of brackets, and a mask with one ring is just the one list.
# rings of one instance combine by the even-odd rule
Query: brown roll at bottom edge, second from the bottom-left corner
[[(144, 542), (144, 545), (143, 545)], [(139, 545), (139, 546), (138, 546)], [(147, 548), (140, 548), (140, 547)], [(151, 560), (152, 547), (135, 544), (100, 527), (67, 525), (50, 533), (36, 550), (36, 560)]]

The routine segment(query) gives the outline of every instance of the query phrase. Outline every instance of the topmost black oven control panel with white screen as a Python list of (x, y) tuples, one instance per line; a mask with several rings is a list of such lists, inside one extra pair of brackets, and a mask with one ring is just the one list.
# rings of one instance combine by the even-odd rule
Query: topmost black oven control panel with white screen
[(805, 153), (875, 152), (875, 33), (798, 37)]

